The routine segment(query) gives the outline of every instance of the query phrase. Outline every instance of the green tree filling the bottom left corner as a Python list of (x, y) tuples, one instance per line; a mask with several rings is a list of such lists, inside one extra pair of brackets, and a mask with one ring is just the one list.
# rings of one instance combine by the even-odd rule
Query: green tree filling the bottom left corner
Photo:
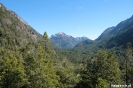
[(4, 50), (6, 56), (0, 61), (1, 88), (21, 88), (27, 85), (27, 79), (21, 54), (16, 51)]

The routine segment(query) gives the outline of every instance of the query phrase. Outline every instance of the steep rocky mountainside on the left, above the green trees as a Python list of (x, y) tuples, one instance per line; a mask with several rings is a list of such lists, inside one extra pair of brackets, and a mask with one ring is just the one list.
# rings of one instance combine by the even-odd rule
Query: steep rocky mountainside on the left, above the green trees
[(12, 45), (18, 48), (28, 43), (36, 43), (42, 35), (36, 32), (15, 12), (0, 4), (0, 45)]

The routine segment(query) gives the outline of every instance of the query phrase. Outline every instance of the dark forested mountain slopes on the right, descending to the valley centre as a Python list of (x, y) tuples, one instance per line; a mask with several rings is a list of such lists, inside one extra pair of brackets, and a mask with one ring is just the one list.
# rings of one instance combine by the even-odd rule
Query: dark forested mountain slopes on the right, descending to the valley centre
[[(120, 22), (116, 27), (107, 28), (95, 41), (83, 41), (75, 49), (110, 49), (133, 43), (133, 16)], [(86, 43), (87, 42), (87, 43)]]

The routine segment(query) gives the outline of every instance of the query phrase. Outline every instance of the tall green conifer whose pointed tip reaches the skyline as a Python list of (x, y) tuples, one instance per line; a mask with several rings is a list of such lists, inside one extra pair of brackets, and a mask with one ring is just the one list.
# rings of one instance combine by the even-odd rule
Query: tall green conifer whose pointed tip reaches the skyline
[(24, 49), (25, 70), (28, 78), (28, 88), (56, 88), (61, 87), (60, 78), (56, 75), (51, 61), (52, 49), (46, 32), (43, 41), (31, 44)]

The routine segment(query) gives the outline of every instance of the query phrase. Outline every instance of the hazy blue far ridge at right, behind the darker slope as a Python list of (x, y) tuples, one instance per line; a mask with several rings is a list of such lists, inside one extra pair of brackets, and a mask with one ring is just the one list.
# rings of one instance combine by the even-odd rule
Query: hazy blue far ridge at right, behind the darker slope
[(131, 27), (133, 25), (133, 16), (130, 18), (121, 21), (116, 27), (110, 27), (107, 28), (97, 39), (97, 40), (103, 40), (111, 38), (123, 31), (125, 31), (127, 28)]

